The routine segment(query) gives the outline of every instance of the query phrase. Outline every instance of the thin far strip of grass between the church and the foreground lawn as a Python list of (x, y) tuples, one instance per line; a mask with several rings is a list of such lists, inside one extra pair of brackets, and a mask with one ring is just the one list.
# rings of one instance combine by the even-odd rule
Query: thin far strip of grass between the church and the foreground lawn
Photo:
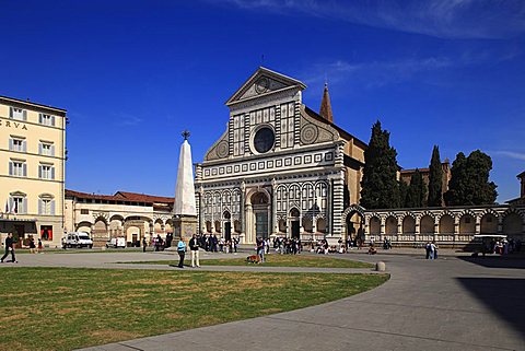
[[(235, 258), (210, 258), (201, 259), (201, 266), (254, 266), (246, 262), (246, 256)], [(185, 265), (189, 265), (190, 260), (186, 256)], [(304, 255), (266, 255), (266, 262), (262, 266), (269, 267), (319, 267), (319, 268), (373, 268), (368, 262), (352, 261), (349, 259), (340, 259), (327, 256), (304, 256)], [(178, 265), (178, 260), (153, 260), (153, 261), (132, 261), (120, 264), (141, 264), (141, 265)]]

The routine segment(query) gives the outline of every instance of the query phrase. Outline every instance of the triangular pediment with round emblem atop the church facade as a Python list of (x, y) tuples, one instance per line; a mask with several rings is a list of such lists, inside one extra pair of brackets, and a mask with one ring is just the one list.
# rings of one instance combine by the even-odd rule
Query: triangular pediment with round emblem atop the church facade
[(266, 96), (287, 89), (303, 90), (306, 85), (296, 79), (259, 67), (254, 74), (230, 97), (226, 105), (233, 105), (259, 96)]

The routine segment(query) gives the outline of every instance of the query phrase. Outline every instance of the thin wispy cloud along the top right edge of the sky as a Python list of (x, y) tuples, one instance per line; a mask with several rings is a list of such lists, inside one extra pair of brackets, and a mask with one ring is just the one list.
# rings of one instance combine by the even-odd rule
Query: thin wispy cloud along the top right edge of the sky
[(240, 9), (303, 13), (442, 38), (502, 38), (525, 32), (523, 0), (215, 0)]

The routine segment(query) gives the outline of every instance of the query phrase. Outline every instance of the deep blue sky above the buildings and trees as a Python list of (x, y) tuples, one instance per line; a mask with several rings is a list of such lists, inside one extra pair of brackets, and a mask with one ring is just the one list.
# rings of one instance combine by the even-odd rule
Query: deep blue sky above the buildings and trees
[[(405, 168), (480, 149), (498, 200), (525, 171), (525, 2), (1, 1), (0, 95), (68, 109), (67, 187), (173, 196), (180, 131), (194, 162), (224, 102), (264, 65), (369, 141), (380, 119)], [(262, 58), (264, 57), (264, 58)]]

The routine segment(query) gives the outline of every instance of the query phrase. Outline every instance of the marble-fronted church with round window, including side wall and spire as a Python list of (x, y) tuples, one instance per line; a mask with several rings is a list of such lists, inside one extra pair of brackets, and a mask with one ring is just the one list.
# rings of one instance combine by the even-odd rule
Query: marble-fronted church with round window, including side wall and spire
[(343, 211), (359, 203), (366, 143), (334, 124), (326, 86), (319, 113), (303, 104), (305, 89), (259, 68), (228, 100), (228, 128), (196, 165), (200, 233), (337, 242), (347, 224), (363, 231)]

